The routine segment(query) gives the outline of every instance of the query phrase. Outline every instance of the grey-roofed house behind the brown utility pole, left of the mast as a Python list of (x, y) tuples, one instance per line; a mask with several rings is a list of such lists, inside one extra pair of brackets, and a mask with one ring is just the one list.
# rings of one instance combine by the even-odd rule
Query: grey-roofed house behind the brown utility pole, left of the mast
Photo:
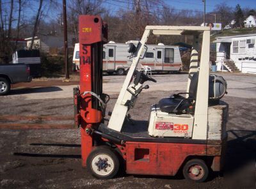
[[(31, 45), (32, 38), (26, 38), (27, 48)], [(41, 52), (45, 52), (51, 55), (61, 53), (63, 50), (63, 36), (44, 35), (35, 36), (33, 49), (40, 49)], [(74, 49), (76, 43), (76, 37), (74, 35), (68, 35), (68, 48)], [(73, 52), (73, 50), (72, 50)]]

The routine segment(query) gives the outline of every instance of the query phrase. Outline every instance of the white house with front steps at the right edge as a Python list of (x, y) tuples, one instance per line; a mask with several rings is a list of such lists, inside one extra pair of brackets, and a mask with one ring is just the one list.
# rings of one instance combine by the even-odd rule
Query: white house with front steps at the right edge
[(256, 33), (216, 37), (217, 71), (256, 73)]

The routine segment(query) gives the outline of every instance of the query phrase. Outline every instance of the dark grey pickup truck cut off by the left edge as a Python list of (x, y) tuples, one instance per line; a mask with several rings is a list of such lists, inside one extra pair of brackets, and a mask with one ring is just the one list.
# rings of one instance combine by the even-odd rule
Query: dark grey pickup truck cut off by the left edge
[(8, 94), (11, 84), (31, 82), (29, 66), (26, 64), (0, 64), (0, 95)]

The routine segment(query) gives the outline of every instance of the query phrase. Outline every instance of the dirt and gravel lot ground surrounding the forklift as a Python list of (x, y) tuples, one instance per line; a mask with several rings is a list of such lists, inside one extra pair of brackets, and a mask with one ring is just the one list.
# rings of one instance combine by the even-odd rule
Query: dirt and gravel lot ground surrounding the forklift
[[(157, 84), (148, 82), (150, 89), (137, 100), (130, 112), (132, 118), (147, 120), (149, 106), (186, 88), (187, 77), (154, 76)], [(254, 188), (256, 77), (224, 77), (229, 93), (223, 100), (230, 105), (226, 165), (205, 183), (190, 183), (180, 176), (122, 175), (97, 180), (81, 167), (79, 130), (0, 130), (0, 188)], [(113, 109), (123, 80), (104, 77), (104, 91), (111, 94), (108, 110)], [(73, 86), (54, 81), (49, 85), (17, 88), (10, 96), (1, 96), (0, 115), (72, 115)]]

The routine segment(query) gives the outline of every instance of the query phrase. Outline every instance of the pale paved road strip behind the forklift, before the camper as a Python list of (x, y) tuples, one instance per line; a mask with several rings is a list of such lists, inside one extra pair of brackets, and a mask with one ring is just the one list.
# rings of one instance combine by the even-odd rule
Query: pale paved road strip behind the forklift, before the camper
[[(231, 75), (230, 73), (218, 74), (228, 82), (228, 94), (227, 96), (241, 97), (241, 98), (256, 98), (256, 77), (254, 75), (243, 75), (236, 74)], [(174, 74), (174, 75), (153, 75), (154, 82), (147, 82), (150, 86), (147, 92), (150, 91), (184, 91), (188, 80), (187, 74)], [(105, 76), (103, 84), (104, 93), (117, 94), (119, 93), (125, 76)], [(40, 82), (42, 83), (42, 82)], [(49, 82), (51, 86), (39, 86), (31, 88), (15, 88), (12, 90), (11, 96), (20, 96), (26, 100), (31, 99), (49, 99), (49, 98), (72, 98), (72, 88), (76, 87), (79, 83), (69, 86), (58, 86), (60, 82), (54, 83)], [(29, 84), (27, 84), (29, 86)], [(66, 85), (66, 84), (65, 84)]]

